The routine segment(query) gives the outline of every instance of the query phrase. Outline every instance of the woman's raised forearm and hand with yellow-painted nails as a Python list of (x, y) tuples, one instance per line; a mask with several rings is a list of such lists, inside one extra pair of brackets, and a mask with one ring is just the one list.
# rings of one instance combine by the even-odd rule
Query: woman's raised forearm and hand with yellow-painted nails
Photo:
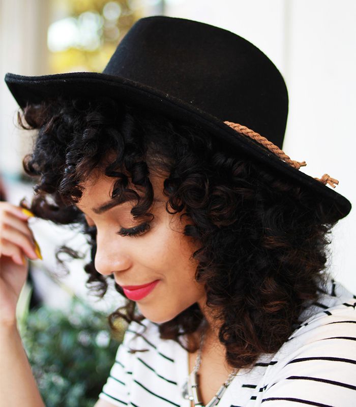
[[(44, 407), (16, 327), (16, 304), (27, 277), (25, 256), (38, 258), (29, 217), (0, 202), (0, 394), (2, 405)], [(16, 383), (21, 386), (14, 392)]]

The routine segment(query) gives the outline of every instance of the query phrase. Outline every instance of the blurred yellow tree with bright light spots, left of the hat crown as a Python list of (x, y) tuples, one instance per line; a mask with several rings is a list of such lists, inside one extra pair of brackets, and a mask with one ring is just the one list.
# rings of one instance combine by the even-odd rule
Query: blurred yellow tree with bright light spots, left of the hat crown
[(53, 73), (101, 72), (142, 16), (140, 2), (134, 0), (52, 0), (51, 6), (47, 43)]

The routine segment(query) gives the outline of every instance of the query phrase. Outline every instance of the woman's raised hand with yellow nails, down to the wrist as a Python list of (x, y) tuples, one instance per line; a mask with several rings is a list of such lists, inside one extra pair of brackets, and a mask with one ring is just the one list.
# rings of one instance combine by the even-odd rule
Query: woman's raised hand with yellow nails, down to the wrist
[[(0, 323), (16, 325), (16, 304), (27, 278), (27, 260), (42, 258), (27, 220), (33, 214), (0, 202)], [(26, 257), (25, 257), (26, 256)]]

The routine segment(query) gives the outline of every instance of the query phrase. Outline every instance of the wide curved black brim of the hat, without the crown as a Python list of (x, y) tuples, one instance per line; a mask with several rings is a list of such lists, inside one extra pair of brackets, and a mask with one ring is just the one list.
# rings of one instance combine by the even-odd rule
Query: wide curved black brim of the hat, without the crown
[(27, 103), (41, 103), (60, 95), (71, 98), (107, 96), (124, 103), (149, 108), (172, 119), (198, 124), (215, 134), (223, 142), (231, 144), (248, 156), (310, 189), (316, 199), (323, 202), (325, 212), (329, 212), (331, 219), (341, 219), (351, 210), (350, 201), (343, 195), (291, 167), (257, 142), (226, 125), (224, 121), (228, 121), (229, 118), (221, 120), (196, 108), (193, 104), (164, 94), (140, 82), (96, 72), (72, 72), (44, 76), (22, 76), (8, 73), (5, 81), (21, 108), (24, 108)]

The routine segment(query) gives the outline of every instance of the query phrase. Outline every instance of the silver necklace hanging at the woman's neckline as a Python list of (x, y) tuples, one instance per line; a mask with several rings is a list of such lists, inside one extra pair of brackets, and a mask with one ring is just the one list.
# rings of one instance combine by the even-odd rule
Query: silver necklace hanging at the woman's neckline
[(233, 378), (235, 377), (236, 373), (239, 371), (239, 369), (233, 369), (232, 372), (229, 374), (227, 377), (227, 380), (223, 385), (220, 387), (220, 389), (217, 391), (215, 396), (207, 403), (205, 406), (203, 403), (200, 401), (200, 395), (199, 395), (199, 368), (201, 364), (201, 351), (203, 347), (205, 339), (205, 331), (201, 335), (200, 338), (200, 346), (199, 346), (199, 351), (198, 355), (195, 360), (195, 365), (189, 376), (187, 377), (187, 381), (183, 385), (183, 390), (182, 390), (182, 395), (186, 400), (191, 400), (194, 402), (194, 407), (214, 407), (215, 405), (218, 404), (220, 401), (221, 397), (225, 393), (226, 389), (228, 388), (229, 384), (232, 382)]

